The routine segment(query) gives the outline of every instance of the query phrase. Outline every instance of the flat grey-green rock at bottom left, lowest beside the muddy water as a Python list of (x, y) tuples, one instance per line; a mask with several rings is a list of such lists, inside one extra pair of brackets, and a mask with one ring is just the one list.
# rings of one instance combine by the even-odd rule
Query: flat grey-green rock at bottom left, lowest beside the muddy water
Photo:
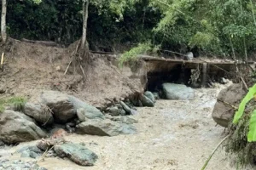
[(93, 166), (98, 156), (80, 144), (59, 144), (54, 148), (60, 157), (67, 157), (81, 166)]

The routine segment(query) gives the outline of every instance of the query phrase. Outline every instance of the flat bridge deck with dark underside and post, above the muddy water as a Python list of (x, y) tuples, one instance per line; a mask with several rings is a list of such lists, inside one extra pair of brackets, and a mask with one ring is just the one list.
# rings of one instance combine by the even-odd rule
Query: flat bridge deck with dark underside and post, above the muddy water
[[(200, 70), (202, 85), (205, 85), (207, 77), (211, 76), (228, 77), (230, 79), (234, 78), (236, 76), (236, 66), (239, 71), (244, 71), (247, 68), (247, 65), (244, 63), (226, 61), (214, 62), (204, 61), (202, 59), (189, 61), (181, 59), (156, 58), (147, 55), (141, 55), (140, 57), (145, 61), (148, 73), (155, 73), (154, 77), (160, 72), (172, 73), (173, 71), (176, 71), (176, 73), (179, 73), (181, 71), (186, 72), (191, 70)], [(248, 64), (255, 68), (254, 62), (250, 62)]]

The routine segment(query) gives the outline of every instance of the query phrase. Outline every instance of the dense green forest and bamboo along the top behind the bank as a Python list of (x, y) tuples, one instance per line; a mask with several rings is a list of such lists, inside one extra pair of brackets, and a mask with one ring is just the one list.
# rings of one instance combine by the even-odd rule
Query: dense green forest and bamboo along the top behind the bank
[[(9, 0), (9, 36), (74, 42), (82, 35), (82, 3)], [(95, 44), (113, 51), (115, 44), (147, 42), (180, 53), (246, 59), (256, 48), (255, 12), (253, 0), (91, 0), (87, 37), (93, 50)]]

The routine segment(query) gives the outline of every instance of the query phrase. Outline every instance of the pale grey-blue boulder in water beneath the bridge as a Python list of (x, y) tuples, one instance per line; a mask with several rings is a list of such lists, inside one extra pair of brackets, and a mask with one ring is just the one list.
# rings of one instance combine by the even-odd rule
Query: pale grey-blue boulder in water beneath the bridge
[(190, 100), (194, 99), (195, 92), (193, 88), (189, 88), (183, 84), (174, 84), (174, 83), (164, 83), (163, 92), (166, 96), (166, 99), (182, 99)]

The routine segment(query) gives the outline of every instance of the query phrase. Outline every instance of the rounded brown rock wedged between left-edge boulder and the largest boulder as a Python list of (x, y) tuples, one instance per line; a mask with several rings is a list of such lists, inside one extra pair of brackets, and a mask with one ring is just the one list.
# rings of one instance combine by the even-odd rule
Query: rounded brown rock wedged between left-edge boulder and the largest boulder
[(54, 122), (51, 111), (46, 105), (26, 103), (24, 113), (42, 124), (52, 124)]

